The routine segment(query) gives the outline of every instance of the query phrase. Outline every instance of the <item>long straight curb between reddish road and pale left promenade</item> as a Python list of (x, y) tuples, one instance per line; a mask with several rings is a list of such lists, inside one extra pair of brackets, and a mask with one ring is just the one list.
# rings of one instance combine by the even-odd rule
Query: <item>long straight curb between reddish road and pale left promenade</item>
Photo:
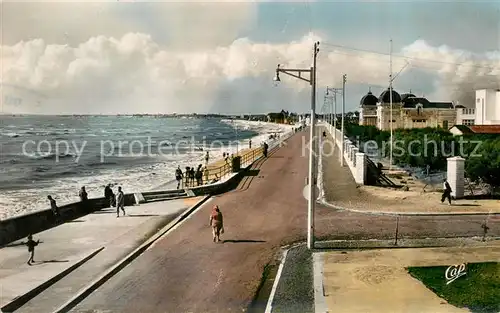
[(58, 309), (54, 310), (54, 313), (62, 313), (69, 312), (72, 308), (74, 308), (78, 303), (80, 303), (83, 299), (85, 299), (88, 295), (94, 292), (97, 288), (99, 288), (102, 284), (104, 284), (107, 280), (113, 277), (115, 274), (120, 272), (125, 266), (130, 264), (133, 260), (135, 260), (138, 256), (140, 256), (144, 251), (146, 251), (153, 243), (155, 243), (158, 239), (160, 239), (165, 233), (171, 230), (173, 227), (179, 225), (184, 219), (186, 219), (194, 210), (203, 205), (211, 196), (204, 196), (203, 199), (198, 201), (195, 205), (184, 211), (180, 216), (170, 222), (167, 226), (163, 227), (160, 231), (156, 232), (151, 238), (149, 238), (146, 242), (136, 248), (134, 251), (125, 256), (122, 260), (118, 261), (115, 265), (113, 265), (109, 270), (104, 272), (100, 277), (91, 282), (89, 285), (81, 289), (73, 298), (67, 301), (65, 304), (60, 306)]

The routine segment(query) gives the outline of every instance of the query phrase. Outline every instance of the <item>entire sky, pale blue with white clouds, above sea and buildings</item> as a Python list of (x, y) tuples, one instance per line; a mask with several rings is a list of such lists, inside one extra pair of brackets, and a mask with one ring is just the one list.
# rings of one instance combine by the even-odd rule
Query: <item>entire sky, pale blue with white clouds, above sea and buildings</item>
[[(3, 1), (1, 113), (307, 112), (340, 88), (474, 105), (500, 88), (500, 1)], [(398, 74), (399, 73), (399, 74)], [(340, 98), (337, 102), (340, 105)]]

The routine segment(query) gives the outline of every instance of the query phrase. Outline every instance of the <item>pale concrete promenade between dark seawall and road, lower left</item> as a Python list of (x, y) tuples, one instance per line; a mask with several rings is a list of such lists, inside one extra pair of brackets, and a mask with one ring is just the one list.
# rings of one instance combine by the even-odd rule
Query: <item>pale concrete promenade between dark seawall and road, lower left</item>
[(7, 245), (0, 249), (0, 307), (96, 253), (16, 311), (50, 312), (200, 199), (125, 207), (127, 216), (120, 218), (115, 208), (105, 209), (34, 234), (40, 244), (32, 266), (26, 239)]

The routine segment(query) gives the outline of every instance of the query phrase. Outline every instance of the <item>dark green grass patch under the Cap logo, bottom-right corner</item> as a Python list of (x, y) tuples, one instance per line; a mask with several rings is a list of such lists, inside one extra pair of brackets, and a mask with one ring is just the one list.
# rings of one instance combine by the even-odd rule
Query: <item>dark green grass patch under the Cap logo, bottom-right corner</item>
[(449, 285), (444, 277), (447, 268), (409, 267), (408, 272), (449, 304), (474, 313), (500, 312), (500, 263), (468, 263), (467, 274)]

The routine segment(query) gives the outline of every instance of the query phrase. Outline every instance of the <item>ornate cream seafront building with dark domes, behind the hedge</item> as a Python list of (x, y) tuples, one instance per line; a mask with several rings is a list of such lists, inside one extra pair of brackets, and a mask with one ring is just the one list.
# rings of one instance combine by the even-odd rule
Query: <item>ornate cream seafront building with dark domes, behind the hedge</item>
[(452, 102), (431, 102), (414, 94), (399, 94), (392, 90), (391, 121), (390, 90), (384, 90), (377, 98), (371, 90), (360, 102), (359, 125), (373, 125), (381, 130), (397, 128), (442, 127), (455, 124), (458, 107)]

